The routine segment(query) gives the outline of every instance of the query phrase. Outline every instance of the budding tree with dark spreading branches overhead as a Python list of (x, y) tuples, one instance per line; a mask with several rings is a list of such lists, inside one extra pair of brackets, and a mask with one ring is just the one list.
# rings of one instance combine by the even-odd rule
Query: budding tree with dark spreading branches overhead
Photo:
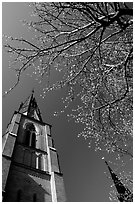
[[(132, 3), (33, 3), (27, 26), (31, 41), (9, 37), (17, 82), (32, 68), (46, 80), (43, 95), (67, 87), (66, 106), (80, 104), (71, 116), (85, 125), (79, 134), (96, 149), (132, 157), (133, 9)], [(58, 81), (51, 75), (59, 72)], [(51, 83), (52, 82), (52, 83)]]

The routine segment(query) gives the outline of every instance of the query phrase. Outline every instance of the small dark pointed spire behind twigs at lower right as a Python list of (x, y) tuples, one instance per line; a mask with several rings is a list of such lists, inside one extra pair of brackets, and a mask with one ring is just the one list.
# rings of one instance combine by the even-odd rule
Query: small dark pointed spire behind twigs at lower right
[(111, 174), (112, 180), (115, 184), (115, 187), (117, 189), (118, 192), (118, 199), (120, 202), (133, 202), (133, 194), (132, 192), (124, 186), (124, 184), (120, 181), (120, 179), (118, 178), (118, 176), (113, 172), (113, 170), (110, 168), (110, 166), (108, 165), (107, 161), (105, 161), (109, 172)]

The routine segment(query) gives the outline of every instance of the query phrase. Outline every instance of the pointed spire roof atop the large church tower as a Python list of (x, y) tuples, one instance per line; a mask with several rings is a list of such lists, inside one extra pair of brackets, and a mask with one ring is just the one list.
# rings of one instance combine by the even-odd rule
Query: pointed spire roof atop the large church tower
[(42, 121), (40, 109), (34, 96), (34, 90), (32, 90), (30, 96), (28, 96), (28, 98), (20, 104), (18, 111), (24, 115), (34, 117), (35, 119)]

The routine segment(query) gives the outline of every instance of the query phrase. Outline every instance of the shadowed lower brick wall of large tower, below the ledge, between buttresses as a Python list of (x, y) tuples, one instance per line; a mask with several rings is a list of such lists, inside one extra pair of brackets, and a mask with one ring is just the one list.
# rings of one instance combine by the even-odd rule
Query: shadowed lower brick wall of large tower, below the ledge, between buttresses
[(34, 172), (23, 166), (13, 165), (6, 185), (5, 202), (15, 202), (18, 192), (21, 190), (20, 202), (51, 202), (50, 175), (42, 172)]

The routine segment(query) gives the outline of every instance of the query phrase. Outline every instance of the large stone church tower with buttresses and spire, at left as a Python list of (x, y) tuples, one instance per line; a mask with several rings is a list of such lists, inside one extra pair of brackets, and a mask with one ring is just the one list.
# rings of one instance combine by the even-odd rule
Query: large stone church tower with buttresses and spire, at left
[(32, 95), (15, 111), (2, 139), (4, 202), (65, 202), (63, 175), (51, 135)]

